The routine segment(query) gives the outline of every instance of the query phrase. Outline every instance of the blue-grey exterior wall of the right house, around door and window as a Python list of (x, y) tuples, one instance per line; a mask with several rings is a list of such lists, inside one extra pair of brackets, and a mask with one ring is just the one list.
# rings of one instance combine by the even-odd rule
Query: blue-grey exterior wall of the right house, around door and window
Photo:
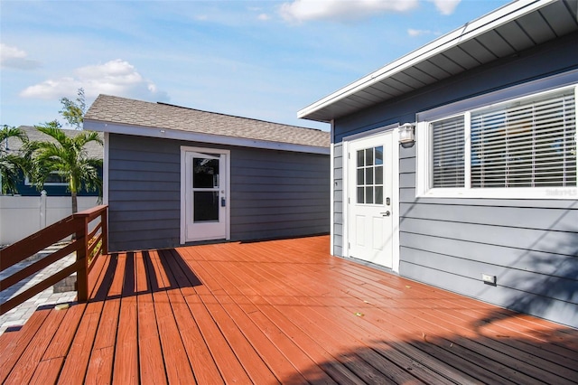
[[(576, 41), (573, 33), (335, 120), (335, 254), (340, 255), (343, 245), (338, 202), (342, 170), (337, 158), (344, 136), (415, 122), (421, 111), (564, 73), (573, 73), (573, 81), (578, 81)], [(578, 202), (418, 198), (417, 146), (400, 148), (400, 275), (578, 327)], [(497, 285), (484, 284), (482, 273), (497, 276)]]

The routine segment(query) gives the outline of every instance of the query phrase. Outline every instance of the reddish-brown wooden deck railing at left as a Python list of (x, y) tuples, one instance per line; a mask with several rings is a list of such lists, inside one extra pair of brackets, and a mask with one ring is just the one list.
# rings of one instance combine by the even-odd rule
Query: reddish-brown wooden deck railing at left
[(0, 250), (0, 272), (2, 272), (62, 239), (69, 239), (70, 237), (72, 239), (64, 248), (0, 280), (0, 291), (5, 291), (23, 279), (33, 277), (42, 268), (46, 268), (61, 258), (76, 252), (76, 261), (73, 264), (62, 268), (51, 277), (10, 298), (4, 304), (0, 304), (0, 315), (4, 315), (15, 306), (22, 304), (27, 299), (75, 272), (77, 273), (78, 300), (79, 302), (88, 301), (90, 268), (99, 255), (106, 255), (108, 252), (107, 209), (107, 205), (101, 205), (74, 213), (30, 237)]

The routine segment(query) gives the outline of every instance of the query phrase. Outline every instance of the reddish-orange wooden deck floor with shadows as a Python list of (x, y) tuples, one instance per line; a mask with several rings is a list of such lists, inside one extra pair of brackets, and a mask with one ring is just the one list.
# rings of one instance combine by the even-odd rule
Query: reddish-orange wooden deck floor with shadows
[(329, 237), (113, 254), (0, 336), (0, 382), (578, 382), (578, 331), (329, 255)]

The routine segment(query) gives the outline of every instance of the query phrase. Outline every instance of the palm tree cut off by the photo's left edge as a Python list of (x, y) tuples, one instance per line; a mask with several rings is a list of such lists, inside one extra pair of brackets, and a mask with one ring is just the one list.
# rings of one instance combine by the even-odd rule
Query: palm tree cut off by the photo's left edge
[(16, 185), (21, 175), (26, 173), (26, 158), (10, 152), (8, 139), (11, 137), (18, 138), (23, 144), (28, 142), (26, 134), (20, 128), (4, 126), (0, 129), (0, 190), (2, 194), (18, 193)]

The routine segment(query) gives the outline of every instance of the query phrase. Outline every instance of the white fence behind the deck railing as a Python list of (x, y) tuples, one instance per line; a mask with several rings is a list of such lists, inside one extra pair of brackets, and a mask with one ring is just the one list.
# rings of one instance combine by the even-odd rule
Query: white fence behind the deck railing
[[(98, 204), (95, 196), (79, 196), (79, 211)], [(0, 245), (28, 237), (72, 213), (70, 196), (0, 196)]]

